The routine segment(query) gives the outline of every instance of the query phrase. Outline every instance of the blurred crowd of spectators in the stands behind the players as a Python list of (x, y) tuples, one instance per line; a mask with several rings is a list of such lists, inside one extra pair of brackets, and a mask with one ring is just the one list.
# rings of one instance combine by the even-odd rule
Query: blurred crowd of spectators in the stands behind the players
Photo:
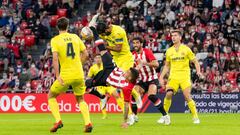
[[(172, 45), (170, 31), (180, 29), (182, 42), (196, 54), (205, 75), (199, 79), (192, 70), (193, 92), (240, 91), (240, 0), (99, 0), (95, 11), (80, 17), (85, 3), (91, 1), (0, 3), (0, 92), (47, 92), (54, 81), (49, 39), (56, 34), (57, 18), (70, 18), (69, 31), (79, 34), (96, 12), (126, 30), (131, 48), (132, 38), (142, 36), (160, 65)], [(46, 49), (33, 59), (31, 49), (43, 43)], [(95, 50), (91, 42), (85, 43), (90, 53), (87, 73)]]

